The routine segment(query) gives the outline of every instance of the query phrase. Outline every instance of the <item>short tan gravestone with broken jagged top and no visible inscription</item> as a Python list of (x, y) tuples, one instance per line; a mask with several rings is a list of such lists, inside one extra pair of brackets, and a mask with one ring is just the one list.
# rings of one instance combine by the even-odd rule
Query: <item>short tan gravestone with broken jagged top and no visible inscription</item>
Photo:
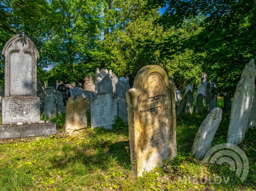
[(71, 135), (79, 133), (87, 127), (87, 110), (89, 99), (78, 95), (75, 99), (69, 97), (66, 106), (65, 132)]

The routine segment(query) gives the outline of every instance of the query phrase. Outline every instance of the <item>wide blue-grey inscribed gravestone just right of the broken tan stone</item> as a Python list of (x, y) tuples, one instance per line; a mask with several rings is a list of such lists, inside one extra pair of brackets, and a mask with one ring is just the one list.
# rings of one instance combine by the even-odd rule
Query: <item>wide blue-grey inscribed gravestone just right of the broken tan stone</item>
[(104, 127), (112, 129), (112, 124), (117, 116), (117, 96), (110, 92), (102, 92), (90, 100), (91, 128)]

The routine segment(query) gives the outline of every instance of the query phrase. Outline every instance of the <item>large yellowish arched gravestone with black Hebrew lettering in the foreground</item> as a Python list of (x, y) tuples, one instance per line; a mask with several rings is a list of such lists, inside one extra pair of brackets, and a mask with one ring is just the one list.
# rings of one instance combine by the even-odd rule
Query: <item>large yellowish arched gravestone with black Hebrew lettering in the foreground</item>
[(132, 169), (141, 176), (177, 155), (174, 84), (160, 66), (142, 67), (126, 102)]

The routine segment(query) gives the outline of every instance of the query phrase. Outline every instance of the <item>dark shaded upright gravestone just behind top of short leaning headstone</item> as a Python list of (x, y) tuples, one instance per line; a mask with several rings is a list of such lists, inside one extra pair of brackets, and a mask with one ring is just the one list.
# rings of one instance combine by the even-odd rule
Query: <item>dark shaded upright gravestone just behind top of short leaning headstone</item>
[(217, 107), (218, 93), (217, 84), (214, 81), (207, 82), (206, 85), (206, 109), (210, 112)]

